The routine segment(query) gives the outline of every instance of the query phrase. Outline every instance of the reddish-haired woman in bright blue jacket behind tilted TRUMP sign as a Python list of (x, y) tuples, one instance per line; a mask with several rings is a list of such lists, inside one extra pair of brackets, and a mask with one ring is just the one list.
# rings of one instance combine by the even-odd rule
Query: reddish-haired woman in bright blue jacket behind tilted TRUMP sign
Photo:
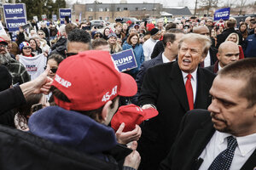
[(133, 54), (135, 55), (137, 67), (127, 71), (132, 77), (136, 77), (139, 71), (140, 66), (143, 64), (144, 61), (144, 54), (143, 54), (143, 45), (139, 42), (139, 37), (137, 33), (131, 33), (131, 35), (127, 38), (127, 42), (123, 45), (123, 50), (132, 48)]

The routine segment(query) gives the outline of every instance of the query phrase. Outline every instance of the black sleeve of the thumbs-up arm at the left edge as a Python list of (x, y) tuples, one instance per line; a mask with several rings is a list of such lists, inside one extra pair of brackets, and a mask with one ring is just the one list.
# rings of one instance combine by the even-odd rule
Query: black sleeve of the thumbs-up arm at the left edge
[(15, 86), (14, 88), (0, 92), (0, 114), (24, 104), (26, 104), (26, 99), (24, 98), (20, 86)]

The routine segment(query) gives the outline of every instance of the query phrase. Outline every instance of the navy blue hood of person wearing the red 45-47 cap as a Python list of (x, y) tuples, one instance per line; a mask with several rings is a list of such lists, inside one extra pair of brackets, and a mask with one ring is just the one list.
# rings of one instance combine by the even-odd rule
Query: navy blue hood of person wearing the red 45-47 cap
[(117, 145), (111, 127), (105, 126), (76, 111), (58, 106), (46, 107), (34, 113), (28, 121), (30, 132), (57, 144), (74, 148), (108, 161), (103, 151)]

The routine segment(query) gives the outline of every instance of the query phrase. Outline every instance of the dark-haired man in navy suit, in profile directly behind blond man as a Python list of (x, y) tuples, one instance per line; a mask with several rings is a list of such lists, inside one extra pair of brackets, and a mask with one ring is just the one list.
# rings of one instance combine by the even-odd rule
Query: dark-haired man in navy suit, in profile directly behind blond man
[(143, 85), (143, 78), (148, 71), (149, 68), (153, 67), (154, 65), (160, 65), (163, 63), (168, 63), (175, 61), (177, 58), (177, 42), (183, 37), (183, 31), (178, 29), (171, 29), (166, 31), (162, 42), (164, 43), (165, 51), (158, 54), (157, 57), (154, 59), (149, 59), (145, 61), (143, 65), (141, 65), (140, 70), (136, 77), (137, 82), (137, 95), (132, 99), (132, 103), (137, 104), (137, 98), (140, 94), (142, 85)]

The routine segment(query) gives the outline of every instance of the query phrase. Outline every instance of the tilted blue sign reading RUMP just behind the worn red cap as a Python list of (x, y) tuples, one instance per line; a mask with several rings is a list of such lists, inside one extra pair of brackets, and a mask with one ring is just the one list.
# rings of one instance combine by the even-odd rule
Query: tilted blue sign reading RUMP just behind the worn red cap
[(132, 49), (127, 49), (119, 53), (112, 54), (112, 58), (119, 71), (127, 71), (127, 69), (137, 67), (137, 62)]

